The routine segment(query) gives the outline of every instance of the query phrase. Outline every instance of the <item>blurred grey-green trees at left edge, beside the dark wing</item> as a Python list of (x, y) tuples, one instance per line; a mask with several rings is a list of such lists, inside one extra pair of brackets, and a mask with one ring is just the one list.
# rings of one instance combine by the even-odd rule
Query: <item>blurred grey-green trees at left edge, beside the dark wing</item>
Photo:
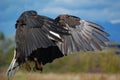
[(10, 63), (14, 46), (14, 38), (5, 38), (4, 34), (0, 32), (0, 66)]

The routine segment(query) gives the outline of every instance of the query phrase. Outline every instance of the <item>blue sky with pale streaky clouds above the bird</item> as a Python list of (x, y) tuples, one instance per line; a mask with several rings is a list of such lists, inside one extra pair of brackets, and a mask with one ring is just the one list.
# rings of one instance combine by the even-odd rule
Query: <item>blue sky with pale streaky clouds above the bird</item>
[(111, 41), (120, 43), (120, 0), (0, 0), (0, 32), (15, 35), (15, 23), (23, 11), (55, 18), (78, 16), (104, 27)]

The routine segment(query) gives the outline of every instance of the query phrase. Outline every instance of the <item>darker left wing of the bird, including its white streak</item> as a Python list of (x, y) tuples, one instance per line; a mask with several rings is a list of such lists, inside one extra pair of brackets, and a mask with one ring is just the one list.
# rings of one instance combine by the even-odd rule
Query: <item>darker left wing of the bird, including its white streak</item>
[(54, 24), (53, 19), (33, 13), (33, 11), (24, 12), (16, 23), (18, 60), (24, 61), (25, 57), (29, 56), (37, 48), (56, 46), (53, 41), (62, 42), (59, 35), (68, 34), (66, 29), (56, 27), (57, 25)]

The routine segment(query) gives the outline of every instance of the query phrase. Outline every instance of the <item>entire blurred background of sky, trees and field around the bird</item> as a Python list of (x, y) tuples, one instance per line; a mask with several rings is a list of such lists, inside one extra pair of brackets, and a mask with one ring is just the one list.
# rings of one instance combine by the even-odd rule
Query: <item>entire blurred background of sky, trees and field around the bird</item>
[[(111, 73), (113, 74), (113, 77), (115, 77), (115, 80), (120, 80), (120, 77), (118, 77), (120, 73), (119, 8), (120, 0), (1, 0), (0, 80), (6, 79), (5, 71), (13, 57), (16, 20), (20, 14), (26, 10), (36, 10), (38, 14), (51, 18), (56, 18), (59, 14), (71, 14), (78, 16), (81, 19), (95, 22), (103, 26), (104, 30), (110, 34), (108, 37), (110, 42), (107, 43), (107, 47), (103, 48), (103, 51), (81, 52), (80, 54), (76, 53), (64, 58), (56, 59), (53, 63), (44, 66), (42, 74), (39, 74), (39, 72), (25, 74), (24, 70), (20, 69), (18, 74), (16, 74), (15, 80), (19, 80), (18, 78), (21, 80), (21, 76), (22, 80), (26, 80), (26, 78), (29, 79), (27, 76), (30, 75), (43, 76), (44, 74), (47, 74), (48, 76), (51, 76), (49, 73), (53, 73), (54, 75), (52, 76), (57, 76), (55, 74), (66, 73), (74, 78), (76, 78), (75, 75), (78, 74), (78, 78), (76, 78), (78, 80), (81, 78), (79, 74), (88, 76), (89, 73), (95, 73), (95, 75), (100, 73), (100, 78), (98, 80), (107, 80), (108, 76), (111, 76), (108, 73)], [(32, 80), (33, 77), (30, 77), (30, 79)], [(84, 78), (85, 77), (83, 77), (82, 80), (85, 80)], [(34, 80), (38, 79), (39, 78), (37, 77)]]

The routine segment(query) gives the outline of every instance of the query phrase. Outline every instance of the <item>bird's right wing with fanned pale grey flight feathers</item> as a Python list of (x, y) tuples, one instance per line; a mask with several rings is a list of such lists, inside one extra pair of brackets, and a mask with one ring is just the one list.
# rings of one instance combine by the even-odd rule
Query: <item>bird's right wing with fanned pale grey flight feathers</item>
[(90, 51), (101, 49), (105, 46), (109, 36), (103, 31), (103, 27), (90, 21), (82, 20), (72, 15), (60, 15), (55, 19), (57, 25), (70, 31), (71, 35), (62, 35), (64, 41), (58, 43), (64, 54), (78, 51)]

